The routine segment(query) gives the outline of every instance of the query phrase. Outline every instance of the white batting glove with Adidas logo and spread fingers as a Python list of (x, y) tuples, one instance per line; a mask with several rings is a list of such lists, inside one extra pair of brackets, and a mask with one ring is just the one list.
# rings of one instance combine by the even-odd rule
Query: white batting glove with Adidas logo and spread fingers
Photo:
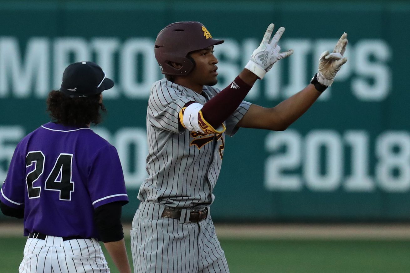
[(248, 64), (245, 66), (246, 69), (257, 75), (261, 80), (266, 72), (271, 70), (274, 63), (280, 59), (292, 55), (293, 53), (293, 49), (285, 52), (279, 52), (280, 46), (278, 46), (277, 43), (285, 31), (285, 27), (280, 27), (269, 43), (274, 27), (275, 25), (273, 24), (269, 25), (260, 46), (253, 51), (251, 60), (248, 61)]

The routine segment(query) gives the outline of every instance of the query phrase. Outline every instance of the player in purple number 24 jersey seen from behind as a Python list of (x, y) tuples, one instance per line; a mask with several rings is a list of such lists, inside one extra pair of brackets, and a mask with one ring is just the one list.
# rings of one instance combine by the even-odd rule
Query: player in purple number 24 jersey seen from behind
[(54, 122), (18, 143), (2, 185), (3, 214), (24, 218), (21, 273), (109, 272), (99, 240), (120, 272), (130, 273), (121, 225), (128, 203), (114, 146), (90, 129), (104, 90), (114, 86), (90, 61), (69, 65), (47, 105)]

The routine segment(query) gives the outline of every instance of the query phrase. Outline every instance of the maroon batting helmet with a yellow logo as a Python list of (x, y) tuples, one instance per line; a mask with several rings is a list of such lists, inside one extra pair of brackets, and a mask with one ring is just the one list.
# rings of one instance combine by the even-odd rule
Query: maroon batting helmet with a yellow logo
[[(194, 62), (188, 53), (210, 46), (219, 45), (223, 40), (212, 38), (209, 31), (199, 22), (177, 22), (167, 25), (158, 33), (155, 40), (155, 59), (162, 74), (187, 75), (194, 69)], [(177, 69), (171, 62), (182, 64)]]

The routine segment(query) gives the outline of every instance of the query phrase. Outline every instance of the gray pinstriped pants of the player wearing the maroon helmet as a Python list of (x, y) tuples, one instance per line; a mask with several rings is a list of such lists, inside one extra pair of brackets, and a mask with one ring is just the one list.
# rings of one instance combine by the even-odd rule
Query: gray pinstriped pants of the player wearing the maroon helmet
[(203, 221), (188, 223), (184, 213), (178, 220), (162, 217), (163, 211), (163, 205), (141, 203), (135, 213), (131, 230), (135, 273), (229, 273), (209, 213)]

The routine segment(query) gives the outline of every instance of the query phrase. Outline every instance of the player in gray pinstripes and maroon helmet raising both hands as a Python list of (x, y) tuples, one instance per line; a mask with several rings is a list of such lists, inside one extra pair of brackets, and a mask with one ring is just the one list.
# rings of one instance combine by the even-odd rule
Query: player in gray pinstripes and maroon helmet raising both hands
[(210, 216), (225, 135), (239, 127), (285, 130), (346, 62), (343, 34), (332, 53), (323, 52), (305, 89), (272, 108), (246, 102), (255, 81), (293, 53), (280, 52), (285, 28), (271, 37), (273, 28), (270, 24), (245, 69), (222, 91), (212, 87), (218, 75), (213, 50), (222, 40), (199, 22), (173, 23), (159, 32), (155, 57), (166, 78), (152, 85), (148, 100), (148, 178), (131, 230), (135, 272), (229, 272)]

